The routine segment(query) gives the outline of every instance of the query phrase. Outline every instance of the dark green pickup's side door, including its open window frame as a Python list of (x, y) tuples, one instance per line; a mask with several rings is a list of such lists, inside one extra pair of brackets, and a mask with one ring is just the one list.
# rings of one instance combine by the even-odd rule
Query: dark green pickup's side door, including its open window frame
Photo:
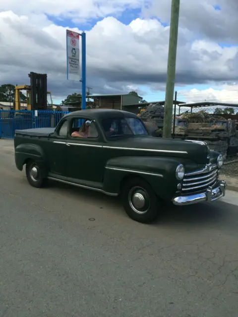
[[(84, 122), (91, 121), (87, 137), (72, 137), (77, 128), (81, 129)], [(91, 131), (91, 133), (90, 133)], [(102, 183), (103, 179), (103, 140), (100, 136), (97, 124), (91, 118), (73, 117), (69, 123), (67, 138), (67, 176), (75, 180)]]

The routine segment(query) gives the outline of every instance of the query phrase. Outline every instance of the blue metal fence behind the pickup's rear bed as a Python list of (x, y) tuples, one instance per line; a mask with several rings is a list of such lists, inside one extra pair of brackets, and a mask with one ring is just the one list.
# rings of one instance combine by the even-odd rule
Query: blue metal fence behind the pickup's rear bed
[(68, 111), (0, 110), (0, 139), (13, 139), (15, 130), (56, 127)]

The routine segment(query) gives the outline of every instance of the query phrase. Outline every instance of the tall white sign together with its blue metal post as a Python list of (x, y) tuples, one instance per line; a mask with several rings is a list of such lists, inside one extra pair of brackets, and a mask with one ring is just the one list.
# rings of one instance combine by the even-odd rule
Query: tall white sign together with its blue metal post
[[(82, 38), (82, 70), (80, 73), (79, 37)], [(86, 34), (66, 30), (67, 79), (82, 83), (82, 109), (86, 108)]]

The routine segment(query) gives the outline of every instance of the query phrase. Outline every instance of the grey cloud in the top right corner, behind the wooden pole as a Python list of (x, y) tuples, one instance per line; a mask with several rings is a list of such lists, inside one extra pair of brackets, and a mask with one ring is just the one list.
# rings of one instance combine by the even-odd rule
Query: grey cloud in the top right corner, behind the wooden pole
[[(216, 10), (217, 6), (221, 10)], [(171, 1), (152, 0), (143, 13), (169, 23)], [(237, 44), (237, 14), (237, 0), (180, 0), (179, 26), (189, 29), (195, 36)]]

